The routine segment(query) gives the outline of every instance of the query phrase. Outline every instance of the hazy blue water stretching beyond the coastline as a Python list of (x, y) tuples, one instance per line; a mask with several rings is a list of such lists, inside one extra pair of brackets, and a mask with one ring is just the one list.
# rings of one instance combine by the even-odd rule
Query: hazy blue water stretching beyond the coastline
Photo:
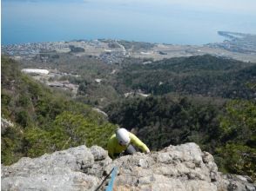
[(223, 41), (219, 30), (256, 34), (252, 0), (241, 1), (244, 7), (200, 1), (3, 0), (1, 44), (98, 38), (205, 44)]

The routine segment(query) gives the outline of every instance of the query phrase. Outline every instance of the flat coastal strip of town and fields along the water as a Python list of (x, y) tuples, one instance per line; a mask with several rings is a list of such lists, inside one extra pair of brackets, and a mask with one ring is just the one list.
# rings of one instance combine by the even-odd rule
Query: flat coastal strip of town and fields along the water
[[(76, 56), (96, 56), (104, 63), (120, 63), (125, 57), (161, 60), (180, 56), (210, 54), (244, 62), (256, 62), (256, 35), (219, 31), (225, 36), (222, 43), (205, 45), (177, 45), (165, 43), (127, 42), (121, 40), (74, 40), (70, 42), (24, 43), (2, 45), (2, 54), (14, 59), (32, 59), (37, 55), (71, 53)], [(243, 46), (241, 46), (243, 44)]]

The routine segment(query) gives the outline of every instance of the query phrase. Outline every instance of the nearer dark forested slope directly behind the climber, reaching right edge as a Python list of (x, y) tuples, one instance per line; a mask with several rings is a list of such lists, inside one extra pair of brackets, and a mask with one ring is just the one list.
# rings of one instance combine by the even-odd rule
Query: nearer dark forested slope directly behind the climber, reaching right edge
[(220, 170), (255, 179), (256, 104), (171, 95), (112, 103), (111, 122), (132, 129), (152, 148), (196, 142)]

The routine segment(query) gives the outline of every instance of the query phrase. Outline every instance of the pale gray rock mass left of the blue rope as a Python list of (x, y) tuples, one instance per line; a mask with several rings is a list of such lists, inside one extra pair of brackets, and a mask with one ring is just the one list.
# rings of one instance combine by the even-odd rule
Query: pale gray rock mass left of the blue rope
[(90, 148), (80, 146), (51, 155), (22, 158), (10, 167), (2, 167), (2, 190), (95, 190), (100, 177), (82, 173), (91, 168), (94, 156)]

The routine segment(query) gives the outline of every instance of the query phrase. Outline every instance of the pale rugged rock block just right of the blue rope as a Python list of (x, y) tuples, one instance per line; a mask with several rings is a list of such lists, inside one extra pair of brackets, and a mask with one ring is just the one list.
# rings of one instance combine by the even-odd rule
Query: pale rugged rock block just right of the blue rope
[[(198, 145), (170, 146), (157, 153), (138, 153), (114, 161), (119, 174), (117, 190), (217, 190), (211, 171), (202, 159)], [(216, 171), (214, 171), (216, 170)]]

